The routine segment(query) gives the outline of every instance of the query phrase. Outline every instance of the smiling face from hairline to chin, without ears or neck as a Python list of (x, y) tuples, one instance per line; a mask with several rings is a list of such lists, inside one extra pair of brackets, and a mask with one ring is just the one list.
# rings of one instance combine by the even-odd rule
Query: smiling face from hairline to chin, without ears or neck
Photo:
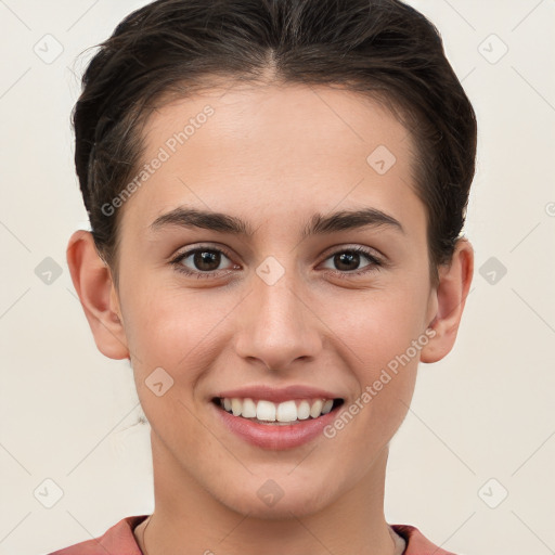
[[(159, 488), (278, 517), (371, 485), (437, 308), (405, 129), (345, 90), (231, 88), (165, 105), (145, 144), (117, 298)], [(282, 426), (220, 397), (336, 401)]]

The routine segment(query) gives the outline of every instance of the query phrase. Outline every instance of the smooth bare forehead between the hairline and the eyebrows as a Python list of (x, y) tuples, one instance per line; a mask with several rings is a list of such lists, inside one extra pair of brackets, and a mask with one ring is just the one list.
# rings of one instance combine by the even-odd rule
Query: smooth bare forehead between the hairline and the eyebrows
[(420, 203), (408, 131), (377, 101), (345, 89), (208, 89), (163, 104), (143, 139), (141, 167), (151, 169), (125, 206), (141, 225), (179, 205), (257, 227), (311, 208), (395, 205), (402, 217)]

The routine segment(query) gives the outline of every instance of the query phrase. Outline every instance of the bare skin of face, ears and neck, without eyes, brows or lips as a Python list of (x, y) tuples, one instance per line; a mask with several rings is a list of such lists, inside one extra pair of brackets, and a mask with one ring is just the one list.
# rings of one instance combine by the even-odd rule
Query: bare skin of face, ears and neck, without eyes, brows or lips
[[(406, 415), (418, 362), (453, 347), (472, 246), (459, 241), (434, 286), (411, 137), (376, 102), (345, 90), (235, 86), (173, 101), (147, 122), (144, 162), (207, 104), (215, 114), (121, 208), (118, 287), (90, 233), (74, 233), (67, 248), (98, 348), (130, 358), (152, 426), (147, 553), (392, 555), (383, 511), (388, 443)], [(378, 145), (397, 158), (385, 175), (366, 163)], [(256, 232), (150, 229), (178, 206), (236, 216)], [(363, 207), (390, 215), (403, 231), (382, 225), (301, 240), (314, 214)], [(219, 275), (186, 276), (170, 263), (199, 244), (231, 254), (211, 267)], [(356, 246), (384, 264), (364, 255), (348, 267), (334, 261)], [(256, 273), (269, 256), (284, 269), (273, 285)], [(182, 264), (206, 268), (192, 256)], [(347, 276), (349, 268), (369, 271)], [(268, 450), (215, 417), (218, 390), (254, 384), (322, 387), (347, 410), (428, 326), (435, 337), (332, 439)], [(145, 379), (160, 366), (173, 386), (157, 397)], [(257, 495), (268, 479), (284, 492), (273, 506)], [(141, 548), (144, 524), (134, 532)]]

